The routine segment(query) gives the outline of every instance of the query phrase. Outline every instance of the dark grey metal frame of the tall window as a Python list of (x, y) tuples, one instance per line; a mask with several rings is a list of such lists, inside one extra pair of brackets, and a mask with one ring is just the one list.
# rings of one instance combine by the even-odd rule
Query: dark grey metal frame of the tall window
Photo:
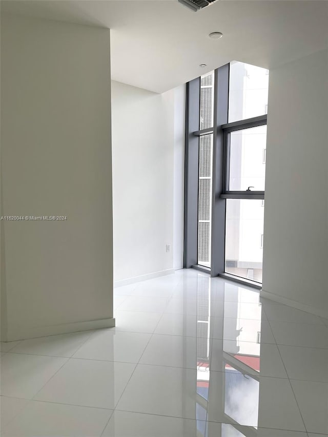
[[(214, 70), (214, 117), (213, 127), (199, 129), (200, 77), (187, 83), (186, 88), (186, 149), (185, 149), (185, 251), (184, 267), (195, 267), (211, 276), (223, 276), (229, 280), (261, 288), (261, 284), (225, 272), (226, 252), (226, 199), (264, 200), (264, 191), (230, 191), (229, 158), (230, 134), (238, 130), (267, 124), (267, 114), (228, 122), (230, 64)], [(199, 137), (213, 133), (212, 168), (212, 233), (211, 268), (198, 262), (198, 189)], [(196, 150), (195, 150), (196, 149)], [(196, 170), (197, 165), (197, 171)], [(198, 186), (198, 185), (197, 185)], [(194, 198), (194, 201), (192, 200)], [(197, 224), (196, 224), (197, 223)], [(196, 227), (195, 227), (196, 225)]]

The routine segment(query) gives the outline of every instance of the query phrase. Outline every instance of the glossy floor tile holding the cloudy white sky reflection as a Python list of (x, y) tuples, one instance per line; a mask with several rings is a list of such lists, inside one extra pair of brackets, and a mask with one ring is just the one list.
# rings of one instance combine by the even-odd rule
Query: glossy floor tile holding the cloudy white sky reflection
[(224, 372), (210, 372), (207, 412), (213, 422), (228, 416), (244, 426), (305, 431), (288, 380), (245, 375), (230, 363)]

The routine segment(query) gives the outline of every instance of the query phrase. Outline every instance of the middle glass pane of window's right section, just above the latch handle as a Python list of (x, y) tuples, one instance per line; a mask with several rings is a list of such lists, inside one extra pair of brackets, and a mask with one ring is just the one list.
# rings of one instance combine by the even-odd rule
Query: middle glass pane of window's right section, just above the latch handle
[(264, 191), (267, 125), (230, 134), (229, 190)]

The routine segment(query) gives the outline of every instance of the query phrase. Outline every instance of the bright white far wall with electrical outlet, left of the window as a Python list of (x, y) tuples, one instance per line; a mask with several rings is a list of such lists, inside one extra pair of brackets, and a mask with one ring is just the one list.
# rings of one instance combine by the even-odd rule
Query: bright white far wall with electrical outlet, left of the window
[[(183, 89), (156, 94), (112, 81), (114, 280), (117, 283), (171, 272), (174, 254), (179, 260), (177, 265), (181, 265), (184, 130), (181, 99), (184, 99)], [(180, 203), (175, 208), (177, 199)], [(166, 244), (171, 244), (169, 253)]]

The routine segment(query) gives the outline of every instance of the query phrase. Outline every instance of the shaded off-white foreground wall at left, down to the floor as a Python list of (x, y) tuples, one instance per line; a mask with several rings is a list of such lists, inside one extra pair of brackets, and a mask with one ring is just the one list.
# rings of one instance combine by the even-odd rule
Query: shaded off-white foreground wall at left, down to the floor
[(3, 340), (113, 326), (110, 34), (2, 15)]

